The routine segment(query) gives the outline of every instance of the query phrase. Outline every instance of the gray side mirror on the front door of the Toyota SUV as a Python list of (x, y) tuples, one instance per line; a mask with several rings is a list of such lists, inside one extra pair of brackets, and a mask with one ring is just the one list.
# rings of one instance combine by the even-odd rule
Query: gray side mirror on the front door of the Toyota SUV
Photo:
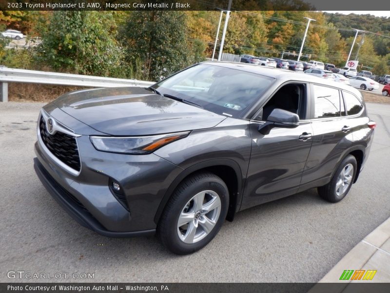
[(268, 116), (267, 122), (260, 125), (258, 130), (261, 134), (269, 134), (273, 127), (294, 128), (299, 126), (299, 116), (290, 111), (273, 109)]

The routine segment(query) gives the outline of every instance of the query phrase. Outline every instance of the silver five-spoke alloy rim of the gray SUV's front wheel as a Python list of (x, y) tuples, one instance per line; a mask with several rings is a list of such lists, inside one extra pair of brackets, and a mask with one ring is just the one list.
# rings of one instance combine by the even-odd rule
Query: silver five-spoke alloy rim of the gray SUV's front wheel
[(213, 190), (201, 191), (182, 209), (177, 220), (177, 235), (187, 244), (205, 238), (215, 227), (221, 212), (221, 200)]

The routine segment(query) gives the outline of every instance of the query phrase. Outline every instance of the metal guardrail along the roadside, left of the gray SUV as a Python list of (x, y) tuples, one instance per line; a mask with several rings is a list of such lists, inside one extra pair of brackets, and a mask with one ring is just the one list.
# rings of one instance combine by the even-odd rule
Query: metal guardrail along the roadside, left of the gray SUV
[(91, 87), (150, 86), (154, 82), (0, 67), (0, 102), (8, 101), (8, 83)]

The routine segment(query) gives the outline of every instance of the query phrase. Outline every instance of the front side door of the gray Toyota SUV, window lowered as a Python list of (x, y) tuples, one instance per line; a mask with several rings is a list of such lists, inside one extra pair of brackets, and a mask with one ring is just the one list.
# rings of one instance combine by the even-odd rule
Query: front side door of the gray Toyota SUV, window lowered
[[(291, 88), (296, 87), (296, 92)], [(298, 191), (302, 173), (312, 146), (312, 123), (307, 84), (279, 87), (262, 107), (258, 118), (250, 123), (252, 152), (241, 209), (249, 208)], [(298, 95), (298, 96), (297, 96)], [(279, 101), (276, 101), (279, 100)], [(282, 108), (298, 114), (299, 126), (274, 127), (263, 135), (258, 127), (265, 123), (271, 108)]]

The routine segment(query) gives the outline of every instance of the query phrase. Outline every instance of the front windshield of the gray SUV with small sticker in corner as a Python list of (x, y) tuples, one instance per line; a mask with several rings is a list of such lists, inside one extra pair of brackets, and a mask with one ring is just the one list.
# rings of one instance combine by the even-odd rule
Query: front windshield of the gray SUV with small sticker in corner
[(157, 83), (153, 87), (230, 117), (241, 117), (274, 81), (251, 72), (217, 64), (197, 64)]

